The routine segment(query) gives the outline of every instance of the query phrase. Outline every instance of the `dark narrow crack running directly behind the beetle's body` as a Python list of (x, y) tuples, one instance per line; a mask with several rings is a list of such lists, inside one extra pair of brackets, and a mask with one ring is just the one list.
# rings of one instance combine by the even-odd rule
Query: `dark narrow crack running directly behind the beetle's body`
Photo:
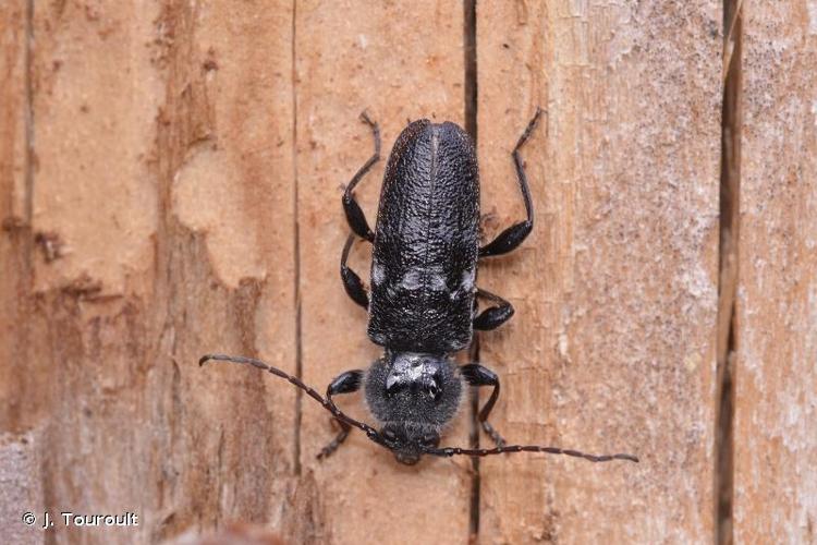
[[(476, 2), (477, 0), (465, 0), (463, 2), (463, 49), (464, 49), (464, 106), (465, 106), (465, 131), (477, 142), (477, 49), (476, 49)], [(468, 350), (472, 362), (479, 361), (479, 336), (474, 331), (474, 341)], [(479, 448), (479, 422), (477, 414), (479, 412), (479, 392), (477, 388), (471, 388), (470, 391), (470, 416), (471, 428), (468, 433), (468, 443), (471, 448)], [(479, 536), (479, 459), (471, 459), (472, 477), (471, 477), (471, 498), (468, 512), (468, 542), (476, 543)]]

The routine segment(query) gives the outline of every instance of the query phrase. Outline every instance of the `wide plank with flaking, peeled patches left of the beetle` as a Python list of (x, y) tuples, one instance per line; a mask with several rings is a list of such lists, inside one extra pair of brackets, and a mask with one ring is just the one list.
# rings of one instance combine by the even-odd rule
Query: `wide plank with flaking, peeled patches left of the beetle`
[(14, 401), (42, 429), (45, 507), (141, 517), (54, 538), (302, 518), (292, 389), (197, 365), (221, 350), (294, 371), (291, 3), (34, 16), (35, 312)]

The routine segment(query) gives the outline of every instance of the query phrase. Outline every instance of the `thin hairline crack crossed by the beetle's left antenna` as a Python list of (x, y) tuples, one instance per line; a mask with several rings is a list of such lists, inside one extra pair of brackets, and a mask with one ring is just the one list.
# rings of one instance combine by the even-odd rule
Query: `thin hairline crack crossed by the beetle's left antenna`
[[(295, 376), (303, 378), (303, 347), (302, 347), (302, 316), (301, 316), (301, 225), (298, 222), (298, 191), (297, 191), (297, 56), (295, 47), (297, 45), (296, 31), (297, 21), (297, 0), (292, 0), (292, 175), (293, 175), (293, 195), (292, 195), (292, 214), (295, 245), (293, 249), (294, 265), (294, 296), (295, 296)], [(303, 407), (303, 392), (300, 388), (295, 389), (295, 445), (293, 447), (293, 457), (295, 465), (295, 475), (301, 475), (301, 409)]]

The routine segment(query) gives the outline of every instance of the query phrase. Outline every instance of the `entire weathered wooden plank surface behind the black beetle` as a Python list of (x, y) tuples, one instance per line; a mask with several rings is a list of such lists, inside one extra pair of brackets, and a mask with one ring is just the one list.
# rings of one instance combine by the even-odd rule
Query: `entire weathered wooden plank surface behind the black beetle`
[[(743, 3), (737, 543), (817, 532), (813, 3)], [(486, 238), (523, 217), (510, 152), (545, 110), (523, 150), (534, 232), (479, 271), (516, 307), (480, 336), (492, 421), (642, 463), (512, 455), (475, 474), (399, 465), (361, 434), (318, 462), (334, 428), (315, 402), (196, 364), (255, 355), (322, 390), (378, 356), (338, 275), (342, 185), (373, 149), (357, 116), (380, 122), (383, 159), (407, 120), (465, 123), (463, 7), (3, 2), (0, 475), (36, 470), (3, 477), (0, 524), (23, 543), (231, 522), (292, 543), (712, 541), (722, 26), (712, 0), (477, 3)], [(370, 219), (383, 162), (357, 191)], [(369, 252), (352, 254), (364, 280)], [(444, 443), (467, 444), (470, 420)], [(142, 523), (26, 532), (28, 509)]]

